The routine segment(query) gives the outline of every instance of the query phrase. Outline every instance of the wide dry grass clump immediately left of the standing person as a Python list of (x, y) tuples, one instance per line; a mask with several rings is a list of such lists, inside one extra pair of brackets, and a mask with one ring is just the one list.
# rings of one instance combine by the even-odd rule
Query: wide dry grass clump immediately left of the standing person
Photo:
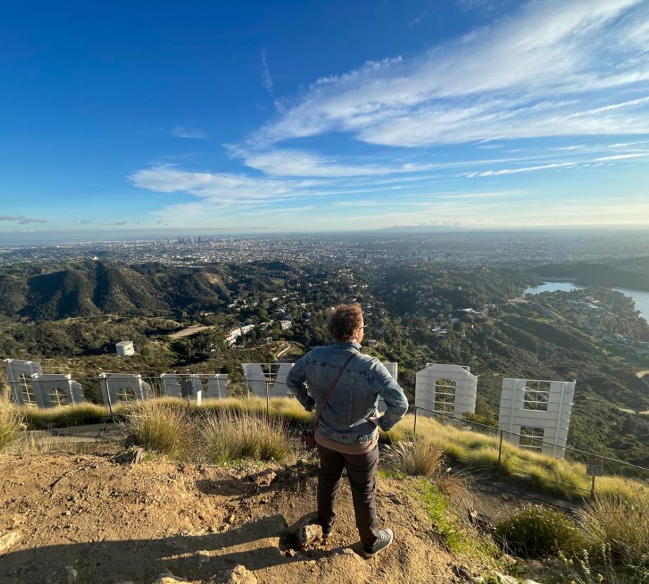
[(220, 414), (201, 424), (204, 455), (209, 462), (225, 464), (242, 458), (286, 459), (293, 443), (284, 424), (265, 417)]

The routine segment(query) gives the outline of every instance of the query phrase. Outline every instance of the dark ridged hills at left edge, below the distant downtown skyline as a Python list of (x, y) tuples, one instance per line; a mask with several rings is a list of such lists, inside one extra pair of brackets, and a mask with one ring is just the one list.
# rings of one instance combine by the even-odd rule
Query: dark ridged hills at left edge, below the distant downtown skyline
[(14, 266), (0, 272), (0, 314), (58, 320), (104, 313), (216, 310), (229, 302), (232, 290), (241, 284), (218, 268), (113, 262), (83, 262), (60, 269)]

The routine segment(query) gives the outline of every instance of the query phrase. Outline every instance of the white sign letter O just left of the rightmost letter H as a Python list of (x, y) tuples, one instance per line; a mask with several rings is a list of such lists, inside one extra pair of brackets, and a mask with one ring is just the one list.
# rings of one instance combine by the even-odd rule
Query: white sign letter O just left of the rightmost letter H
[(424, 416), (474, 414), (477, 393), (478, 378), (463, 365), (427, 364), (415, 378), (415, 407)]

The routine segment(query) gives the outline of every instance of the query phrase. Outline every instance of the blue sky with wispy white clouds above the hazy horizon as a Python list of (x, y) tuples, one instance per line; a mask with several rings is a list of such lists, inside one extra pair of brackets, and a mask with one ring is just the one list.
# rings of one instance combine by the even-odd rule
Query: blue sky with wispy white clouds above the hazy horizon
[(648, 0), (14, 3), (0, 233), (649, 223)]

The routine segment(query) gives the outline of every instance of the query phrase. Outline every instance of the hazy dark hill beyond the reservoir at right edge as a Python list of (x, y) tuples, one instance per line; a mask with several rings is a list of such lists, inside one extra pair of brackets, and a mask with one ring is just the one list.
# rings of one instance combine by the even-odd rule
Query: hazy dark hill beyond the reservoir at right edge
[(604, 264), (550, 264), (534, 270), (543, 278), (574, 279), (584, 286), (607, 286), (609, 288), (630, 288), (649, 292), (649, 258), (626, 260), (619, 265)]

